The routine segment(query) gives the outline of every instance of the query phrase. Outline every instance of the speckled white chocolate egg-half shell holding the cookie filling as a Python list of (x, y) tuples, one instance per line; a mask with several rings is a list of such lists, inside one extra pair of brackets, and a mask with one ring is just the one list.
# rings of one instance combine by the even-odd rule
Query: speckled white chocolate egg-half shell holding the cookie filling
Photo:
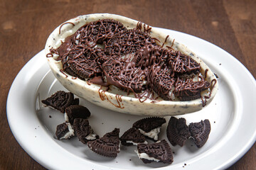
[[(50, 48), (58, 48), (61, 44), (61, 42), (65, 41), (65, 38), (68, 35), (72, 35), (75, 33), (78, 28), (81, 26), (84, 26), (86, 23), (90, 23), (92, 21), (97, 21), (99, 19), (103, 18), (110, 18), (117, 20), (124, 24), (128, 29), (130, 28), (136, 28), (138, 21), (134, 21), (130, 18), (126, 18), (124, 16), (118, 16), (113, 15), (109, 13), (95, 13), (85, 16), (78, 16), (77, 18), (70, 19), (67, 21), (60, 29), (60, 26), (56, 28), (53, 33), (50, 34), (45, 47), (45, 52), (48, 54), (50, 52)], [(68, 23), (70, 22), (70, 23)], [(75, 26), (73, 26), (74, 23)], [(147, 28), (147, 25), (143, 24), (142, 30)], [(59, 34), (60, 30), (60, 34)], [(156, 28), (151, 28), (150, 32), (151, 37), (157, 38), (160, 40), (159, 45), (162, 45), (164, 41), (166, 40), (166, 34), (159, 32)], [(166, 45), (171, 46), (174, 41), (174, 38), (167, 38), (164, 47)], [(215, 78), (215, 75), (213, 72), (208, 68), (208, 66), (201, 60), (199, 57), (191, 52), (191, 50), (188, 50), (187, 47), (182, 45), (179, 42), (174, 41), (174, 45), (172, 46), (174, 50), (179, 50), (183, 52), (186, 55), (189, 55), (193, 58), (193, 60), (196, 60), (196, 62), (201, 64), (201, 74), (204, 75), (204, 72), (206, 69), (208, 69), (208, 74), (206, 77), (206, 80), (208, 82), (212, 81)], [(113, 86), (110, 86), (109, 91), (103, 91), (100, 89), (100, 86), (97, 84), (89, 84), (87, 81), (82, 81), (80, 79), (74, 79), (74, 77), (63, 74), (60, 72), (60, 69), (62, 69), (62, 64), (60, 61), (56, 61), (56, 57), (58, 55), (54, 55), (53, 57), (47, 57), (48, 64), (50, 66), (50, 69), (53, 71), (53, 74), (55, 77), (60, 81), (63, 86), (65, 86), (66, 89), (68, 89), (73, 94), (76, 94), (77, 96), (80, 96), (81, 98), (85, 98), (87, 101), (90, 101), (92, 103), (95, 103), (98, 106), (111, 109), (112, 111), (117, 111), (120, 113), (129, 113), (134, 115), (158, 115), (158, 116), (164, 116), (164, 115), (181, 115), (185, 113), (192, 113), (195, 111), (199, 111), (203, 108), (202, 100), (201, 98), (198, 98), (193, 101), (157, 101), (152, 102), (150, 99), (147, 99), (144, 102), (140, 102), (138, 98), (134, 97), (134, 94), (129, 94), (127, 96), (127, 93), (124, 91), (121, 91), (117, 88), (114, 88)], [(68, 77), (67, 77), (68, 76)], [(218, 82), (216, 82), (215, 86), (210, 86), (210, 89), (212, 89), (211, 96), (207, 100), (206, 105), (212, 101), (213, 97), (218, 91)], [(208, 95), (205, 93), (202, 93), (202, 96)]]

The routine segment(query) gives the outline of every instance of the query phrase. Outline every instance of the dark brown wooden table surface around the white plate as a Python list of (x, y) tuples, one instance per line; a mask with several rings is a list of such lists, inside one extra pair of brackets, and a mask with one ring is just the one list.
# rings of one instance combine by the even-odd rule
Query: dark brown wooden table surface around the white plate
[[(150, 26), (178, 30), (230, 52), (256, 77), (255, 9), (255, 0), (1, 0), (0, 169), (44, 169), (12, 135), (6, 119), (6, 98), (18, 71), (43, 50), (48, 35), (60, 23), (87, 13), (116, 13)], [(255, 155), (253, 145), (230, 170), (256, 169)]]

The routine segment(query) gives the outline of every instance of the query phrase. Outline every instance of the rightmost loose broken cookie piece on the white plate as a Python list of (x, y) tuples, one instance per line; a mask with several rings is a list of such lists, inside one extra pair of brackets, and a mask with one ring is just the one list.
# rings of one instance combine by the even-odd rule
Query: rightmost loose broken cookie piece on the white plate
[(203, 145), (206, 144), (210, 134), (210, 121), (206, 119), (201, 120), (201, 122), (198, 123), (190, 123), (188, 128), (196, 146), (198, 148), (203, 147)]

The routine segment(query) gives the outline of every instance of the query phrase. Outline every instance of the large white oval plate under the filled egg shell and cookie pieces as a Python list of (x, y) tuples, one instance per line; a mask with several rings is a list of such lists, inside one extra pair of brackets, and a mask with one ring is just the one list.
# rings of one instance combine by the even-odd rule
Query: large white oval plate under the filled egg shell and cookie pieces
[[(225, 169), (238, 161), (256, 140), (255, 79), (235, 57), (210, 42), (161, 30), (196, 52), (219, 77), (219, 91), (212, 103), (202, 111), (181, 116), (187, 124), (210, 120), (212, 130), (206, 145), (197, 149), (189, 140), (184, 147), (171, 146), (174, 162), (166, 165), (143, 164), (133, 146), (122, 147), (117, 158), (110, 159), (91, 152), (76, 137), (56, 140), (55, 127), (64, 122), (64, 116), (43, 108), (41, 100), (65, 89), (53, 77), (41, 51), (18, 73), (7, 99), (9, 125), (21, 147), (47, 169)], [(82, 99), (80, 104), (90, 109), (90, 125), (100, 136), (114, 128), (120, 128), (121, 136), (132, 123), (144, 118), (114, 113)], [(160, 139), (166, 139), (165, 131), (166, 124), (161, 128)]]

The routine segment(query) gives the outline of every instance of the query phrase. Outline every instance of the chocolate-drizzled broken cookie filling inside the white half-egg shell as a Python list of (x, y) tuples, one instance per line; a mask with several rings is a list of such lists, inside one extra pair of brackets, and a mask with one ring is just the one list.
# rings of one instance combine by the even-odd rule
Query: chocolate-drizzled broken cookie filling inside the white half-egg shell
[(127, 29), (112, 19), (94, 21), (65, 38), (46, 57), (58, 55), (63, 72), (133, 92), (139, 101), (157, 96), (166, 101), (202, 98), (201, 92), (213, 83), (205, 80), (207, 70), (203, 77), (198, 62), (172, 47), (157, 45), (159, 40), (151, 38), (149, 26), (142, 30), (140, 22), (137, 28)]

